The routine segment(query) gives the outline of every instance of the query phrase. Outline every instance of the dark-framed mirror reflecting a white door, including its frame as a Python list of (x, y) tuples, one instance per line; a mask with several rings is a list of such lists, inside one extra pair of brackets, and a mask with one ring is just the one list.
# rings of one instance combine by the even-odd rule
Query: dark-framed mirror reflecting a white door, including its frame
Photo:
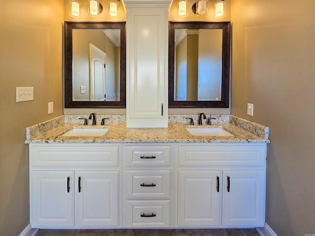
[(64, 22), (64, 108), (126, 108), (126, 22)]

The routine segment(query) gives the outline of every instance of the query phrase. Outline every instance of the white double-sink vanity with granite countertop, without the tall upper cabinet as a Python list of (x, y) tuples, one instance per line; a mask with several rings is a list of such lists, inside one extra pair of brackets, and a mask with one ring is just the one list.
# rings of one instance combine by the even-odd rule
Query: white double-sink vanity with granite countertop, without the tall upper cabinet
[(167, 128), (85, 117), (27, 128), (33, 228), (263, 226), (267, 127), (228, 115), (168, 116)]

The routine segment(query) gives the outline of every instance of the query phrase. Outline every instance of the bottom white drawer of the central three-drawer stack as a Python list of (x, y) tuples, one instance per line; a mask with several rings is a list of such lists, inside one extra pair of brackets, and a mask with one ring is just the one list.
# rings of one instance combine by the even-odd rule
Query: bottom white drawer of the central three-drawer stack
[(170, 200), (126, 201), (127, 228), (169, 227)]

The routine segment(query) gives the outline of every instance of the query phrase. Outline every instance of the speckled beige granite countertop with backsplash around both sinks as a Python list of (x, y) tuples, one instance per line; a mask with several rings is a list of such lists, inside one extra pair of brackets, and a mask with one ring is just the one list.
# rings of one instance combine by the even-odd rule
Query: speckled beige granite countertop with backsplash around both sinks
[[(193, 136), (186, 127), (208, 127), (206, 120), (197, 125), (198, 116), (169, 116), (168, 128), (126, 128), (126, 116), (96, 116), (97, 125), (83, 125), (78, 118), (88, 116), (61, 116), (27, 128), (25, 143), (270, 143), (268, 127), (233, 116), (211, 116), (217, 118), (211, 127), (222, 127), (234, 136)], [(189, 125), (193, 118), (195, 125)], [(209, 116), (207, 116), (209, 117)], [(101, 118), (106, 120), (107, 133), (98, 137), (63, 137), (73, 126), (81, 128), (104, 128)], [(232, 122), (231, 122), (232, 120)], [(112, 122), (114, 121), (114, 122)], [(125, 121), (125, 122), (124, 122)]]

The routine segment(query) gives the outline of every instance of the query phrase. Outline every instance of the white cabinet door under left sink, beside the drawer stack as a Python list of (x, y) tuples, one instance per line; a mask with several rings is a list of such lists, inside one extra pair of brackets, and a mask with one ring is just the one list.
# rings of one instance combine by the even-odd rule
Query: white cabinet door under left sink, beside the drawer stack
[(77, 226), (119, 225), (119, 171), (78, 171)]

